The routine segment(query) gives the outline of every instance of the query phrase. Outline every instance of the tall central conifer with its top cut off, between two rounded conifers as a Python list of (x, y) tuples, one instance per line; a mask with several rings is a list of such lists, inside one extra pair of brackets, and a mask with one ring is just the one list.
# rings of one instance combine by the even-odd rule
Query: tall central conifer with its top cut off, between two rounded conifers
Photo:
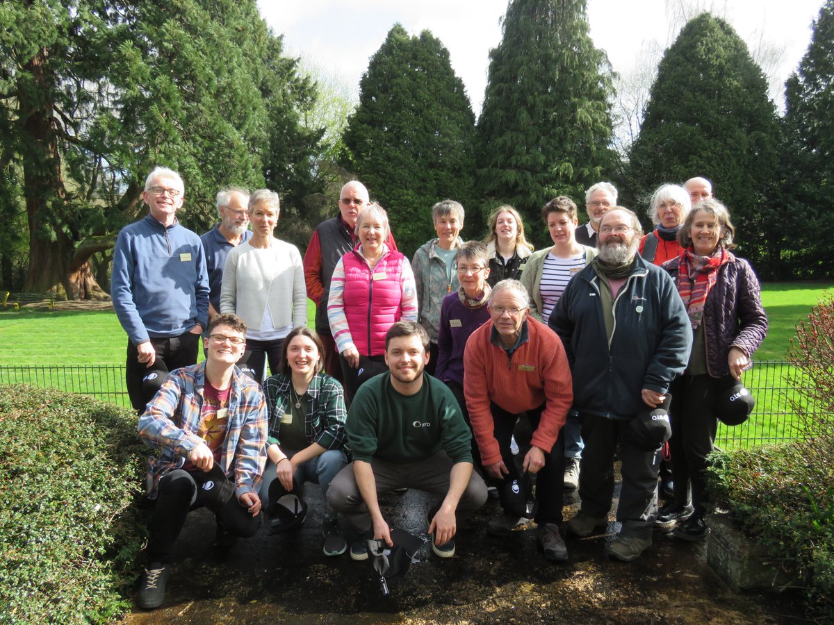
[[(510, 0), (490, 51), (478, 121), (479, 190), (538, 225), (556, 195), (577, 203), (611, 163), (613, 93), (605, 52), (589, 35), (585, 0)], [(536, 243), (548, 239), (532, 228)]]

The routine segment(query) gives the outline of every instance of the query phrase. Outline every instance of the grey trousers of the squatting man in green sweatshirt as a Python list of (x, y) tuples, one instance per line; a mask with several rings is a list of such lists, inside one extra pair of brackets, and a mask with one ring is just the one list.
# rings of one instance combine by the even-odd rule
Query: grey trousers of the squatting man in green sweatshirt
[[(445, 497), (449, 492), (452, 461), (444, 451), (414, 463), (388, 463), (379, 458), (372, 458), (370, 466), (374, 470), (377, 493), (386, 493), (397, 488), (414, 488)], [(333, 478), (327, 491), (327, 501), (336, 512), (341, 512), (357, 532), (365, 532), (373, 526), (368, 507), (356, 484), (354, 463), (350, 463)], [(455, 510), (458, 522), (469, 517), (472, 512), (483, 506), (484, 502), (486, 485), (480, 475), (473, 471)]]

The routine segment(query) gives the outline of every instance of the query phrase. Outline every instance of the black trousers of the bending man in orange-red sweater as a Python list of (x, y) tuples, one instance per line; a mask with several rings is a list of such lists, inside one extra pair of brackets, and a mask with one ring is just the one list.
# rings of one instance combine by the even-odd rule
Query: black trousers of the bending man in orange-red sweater
[[(541, 413), (545, 404), (538, 408), (528, 410), (527, 420), (530, 422), (530, 429), (535, 432), (539, 427)], [(510, 472), (505, 479), (514, 480), (521, 477), (519, 469), (515, 466), (515, 457), (510, 451), (510, 440), (513, 438), (515, 422), (520, 414), (507, 412), (496, 403), (490, 403), (490, 412), (495, 428), (495, 440), (498, 441), (498, 448), (501, 452), (501, 460)], [(550, 453), (545, 453), (545, 466), (535, 474), (535, 500), (539, 503), (538, 512), (535, 513), (535, 522), (561, 523), (562, 522), (562, 495), (565, 486), (565, 436), (564, 428), (559, 431), (559, 438), (553, 443)], [(504, 502), (501, 502), (504, 505)]]

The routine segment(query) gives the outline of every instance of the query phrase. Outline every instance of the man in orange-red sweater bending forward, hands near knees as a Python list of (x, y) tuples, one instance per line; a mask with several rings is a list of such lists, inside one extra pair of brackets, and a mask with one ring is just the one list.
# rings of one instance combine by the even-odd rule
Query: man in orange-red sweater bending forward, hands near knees
[(492, 323), (472, 333), (464, 353), (464, 393), (472, 430), (487, 477), (499, 483), (505, 512), (490, 521), (487, 532), (509, 536), (529, 526), (510, 502), (523, 480), (510, 452), (510, 439), (521, 413), (527, 413), (533, 438), (523, 473), (537, 475), (534, 519), (537, 542), (545, 557), (565, 562), (562, 487), (565, 440), (561, 436), (570, 404), (573, 380), (560, 338), (545, 324), (528, 318), (530, 298), (517, 280), (502, 280), (490, 293)]

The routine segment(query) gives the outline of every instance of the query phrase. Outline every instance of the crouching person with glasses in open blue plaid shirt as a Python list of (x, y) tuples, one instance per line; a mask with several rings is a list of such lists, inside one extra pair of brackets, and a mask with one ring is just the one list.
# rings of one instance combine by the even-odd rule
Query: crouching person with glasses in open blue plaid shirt
[(260, 527), (267, 409), (259, 385), (234, 366), (245, 336), (241, 318), (215, 316), (203, 338), (205, 362), (168, 374), (139, 418), (139, 437), (158, 449), (148, 463), (148, 498), (156, 506), (139, 607), (162, 604), (173, 543), (189, 511), (205, 506), (214, 512), (221, 544)]

